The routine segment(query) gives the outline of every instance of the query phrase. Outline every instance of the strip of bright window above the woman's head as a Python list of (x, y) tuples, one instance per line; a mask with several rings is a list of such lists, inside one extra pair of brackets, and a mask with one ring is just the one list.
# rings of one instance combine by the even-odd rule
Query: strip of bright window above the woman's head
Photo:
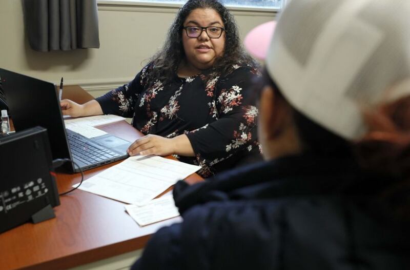
[[(285, 5), (286, 0), (220, 0), (221, 3), (228, 7), (235, 7), (240, 9), (267, 9), (278, 10)], [(287, 0), (289, 1), (289, 0)], [(115, 3), (115, 2), (127, 2), (141, 5), (165, 5), (165, 6), (181, 6), (187, 2), (187, 0), (99, 0), (99, 3)]]

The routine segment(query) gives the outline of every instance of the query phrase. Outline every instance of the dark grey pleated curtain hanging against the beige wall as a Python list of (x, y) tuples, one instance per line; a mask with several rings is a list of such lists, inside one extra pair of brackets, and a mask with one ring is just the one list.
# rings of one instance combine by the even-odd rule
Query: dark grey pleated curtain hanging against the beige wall
[(96, 0), (23, 0), (23, 9), (32, 49), (99, 48)]

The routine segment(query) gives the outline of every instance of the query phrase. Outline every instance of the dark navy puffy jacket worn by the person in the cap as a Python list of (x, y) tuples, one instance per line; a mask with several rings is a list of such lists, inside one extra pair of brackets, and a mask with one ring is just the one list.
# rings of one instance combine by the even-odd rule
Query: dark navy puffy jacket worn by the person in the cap
[(380, 200), (395, 181), (311, 155), (180, 181), (183, 222), (159, 229), (132, 269), (410, 269), (408, 224)]

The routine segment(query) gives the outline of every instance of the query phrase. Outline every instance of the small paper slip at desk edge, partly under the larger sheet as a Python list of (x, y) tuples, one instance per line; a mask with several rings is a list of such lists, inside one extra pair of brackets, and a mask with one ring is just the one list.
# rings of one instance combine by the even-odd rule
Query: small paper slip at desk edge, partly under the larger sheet
[(139, 226), (146, 226), (179, 216), (178, 208), (175, 206), (172, 196), (154, 199), (144, 206), (128, 204), (125, 209)]

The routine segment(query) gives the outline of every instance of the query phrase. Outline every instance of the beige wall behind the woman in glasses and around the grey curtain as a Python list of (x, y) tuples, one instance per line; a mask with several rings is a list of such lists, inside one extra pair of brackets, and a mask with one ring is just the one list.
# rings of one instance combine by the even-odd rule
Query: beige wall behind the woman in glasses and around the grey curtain
[[(22, 2), (0, 1), (0, 67), (99, 95), (134, 78), (161, 47), (177, 8), (98, 4), (99, 49), (37, 52), (27, 42)], [(232, 10), (241, 37), (274, 12)]]

